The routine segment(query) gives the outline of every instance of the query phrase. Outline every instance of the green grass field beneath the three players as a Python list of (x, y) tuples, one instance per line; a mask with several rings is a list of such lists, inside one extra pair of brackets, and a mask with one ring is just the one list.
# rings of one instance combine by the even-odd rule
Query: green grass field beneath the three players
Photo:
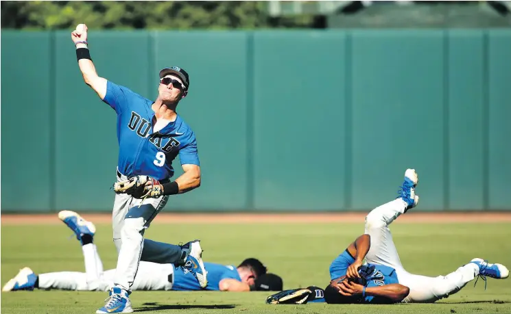
[[(57, 218), (56, 218), (57, 219)], [(116, 253), (109, 224), (97, 225), (95, 243), (105, 269), (115, 267)], [(511, 266), (511, 224), (392, 225), (394, 241), (405, 268), (438, 276), (452, 272), (474, 257)], [(359, 224), (157, 224), (146, 237), (178, 243), (201, 239), (206, 261), (237, 264), (257, 257), (284, 279), (284, 288), (326, 286), (329, 264), (363, 233)], [(36, 273), (84, 271), (79, 242), (64, 224), (1, 226), (1, 285), (21, 267)], [(270, 293), (212, 291), (134, 291), (135, 312), (147, 313), (511, 313), (511, 279), (479, 280), (436, 304), (394, 305), (268, 305)], [(95, 313), (104, 292), (18, 291), (1, 293), (2, 313)]]

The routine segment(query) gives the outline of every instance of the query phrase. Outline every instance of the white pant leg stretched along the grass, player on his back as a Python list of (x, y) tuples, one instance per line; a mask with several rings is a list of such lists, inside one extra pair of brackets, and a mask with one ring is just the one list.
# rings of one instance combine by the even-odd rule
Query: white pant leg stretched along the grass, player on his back
[(479, 274), (479, 267), (474, 263), (468, 263), (447, 276), (438, 277), (409, 274), (405, 270), (396, 270), (396, 274), (399, 283), (410, 289), (402, 302), (430, 303), (460, 291)]

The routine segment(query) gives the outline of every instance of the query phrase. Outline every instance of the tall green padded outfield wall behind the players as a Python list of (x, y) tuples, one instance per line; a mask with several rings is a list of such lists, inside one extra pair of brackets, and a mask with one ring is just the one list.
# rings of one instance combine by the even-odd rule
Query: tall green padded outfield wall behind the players
[[(166, 211), (363, 211), (416, 168), (416, 210), (511, 209), (511, 29), (91, 31), (99, 75), (178, 112), (202, 186)], [(115, 112), (69, 31), (1, 31), (1, 209), (110, 211)], [(174, 162), (180, 168), (178, 159)], [(176, 175), (181, 172), (177, 171)]]

